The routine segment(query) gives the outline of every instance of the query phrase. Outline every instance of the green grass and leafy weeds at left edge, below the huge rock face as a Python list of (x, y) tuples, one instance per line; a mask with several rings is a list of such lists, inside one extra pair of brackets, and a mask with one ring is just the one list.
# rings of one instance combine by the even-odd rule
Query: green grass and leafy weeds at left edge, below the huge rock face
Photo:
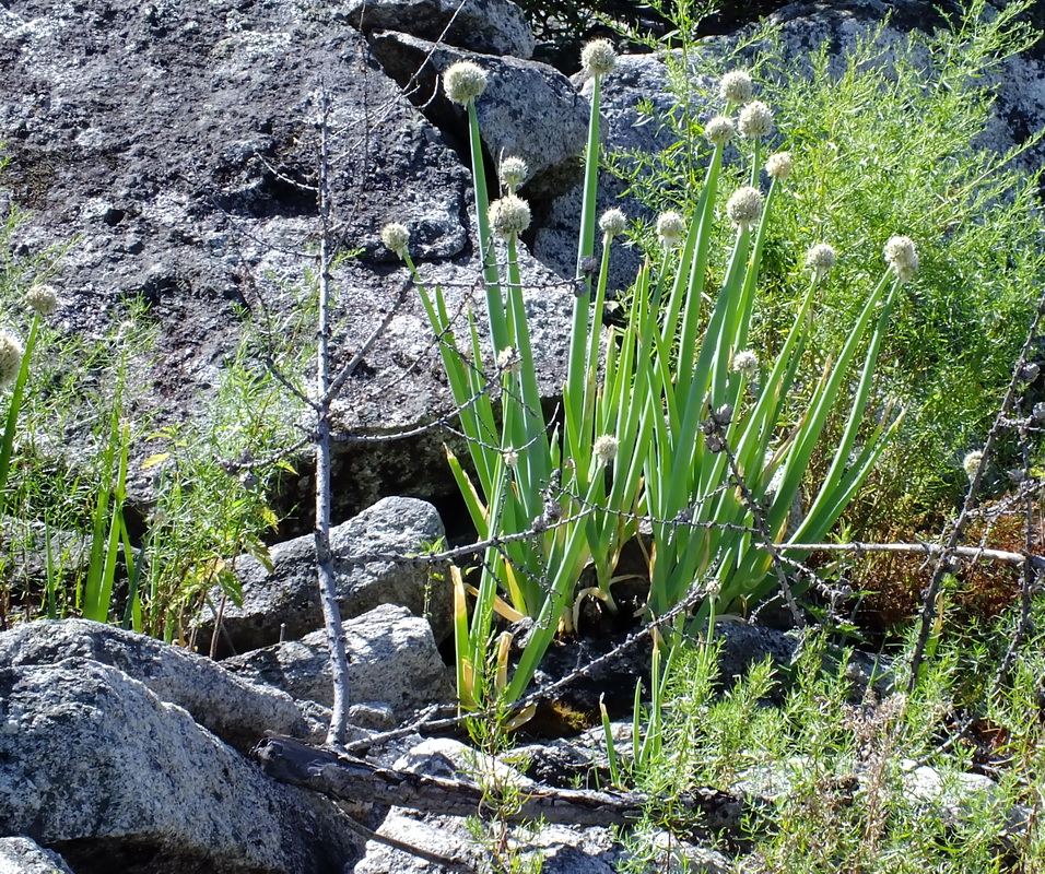
[[(238, 599), (234, 556), (267, 560), (262, 538), (277, 521), (268, 484), (249, 470), (231, 476), (225, 461), (292, 442), (293, 398), (251, 354), (257, 331), (248, 330), (203, 414), (153, 429), (149, 386), (132, 376), (152, 355), (146, 308), (128, 302), (97, 336), (63, 329), (60, 309), (34, 319), (26, 292), (57, 272), (62, 252), (16, 257), (20, 220), (12, 211), (0, 236), (4, 327), (25, 350), (24, 382), (3, 406), (0, 615), (84, 616), (187, 641), (215, 587)], [(290, 342), (293, 332), (281, 335)], [(132, 488), (155, 495), (148, 520), (125, 516)]]

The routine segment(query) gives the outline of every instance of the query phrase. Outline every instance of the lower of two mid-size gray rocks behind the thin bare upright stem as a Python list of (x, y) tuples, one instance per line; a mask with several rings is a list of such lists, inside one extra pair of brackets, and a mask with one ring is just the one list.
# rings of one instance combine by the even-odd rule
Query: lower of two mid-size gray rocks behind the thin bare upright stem
[[(432, 704), (453, 700), (454, 688), (432, 637), (432, 626), (403, 606), (383, 604), (344, 624), (349, 702), (384, 705), (402, 722)], [(234, 656), (222, 668), (300, 700), (333, 706), (326, 631)]]

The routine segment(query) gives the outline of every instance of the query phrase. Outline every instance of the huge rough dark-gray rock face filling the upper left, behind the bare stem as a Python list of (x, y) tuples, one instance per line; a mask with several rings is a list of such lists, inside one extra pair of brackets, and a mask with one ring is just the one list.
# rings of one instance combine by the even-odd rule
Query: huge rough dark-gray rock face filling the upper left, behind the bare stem
[[(137, 411), (157, 427), (199, 413), (214, 398), (244, 314), (279, 324), (300, 306), (294, 290), (315, 269), (318, 218), (314, 192), (295, 184), (315, 181), (320, 83), (330, 106), (334, 249), (362, 249), (333, 274), (334, 366), (391, 319), (344, 386), (337, 424), (385, 437), (453, 408), (416, 291), (379, 232), (392, 220), (406, 224), (413, 258), (432, 282), (455, 290), (457, 305), (480, 273), (469, 174), (343, 9), (87, 0), (73, 14), (15, 0), (0, 9), (0, 141), (10, 158), (0, 205), (25, 210), (20, 252), (73, 244), (54, 279), (62, 331), (104, 335), (128, 302), (145, 303), (156, 345), (153, 364), (128, 370)], [(550, 274), (522, 257), (539, 290)], [(535, 296), (542, 311), (557, 307), (556, 290)], [(483, 295), (473, 297), (481, 312)], [(562, 379), (562, 309), (554, 342), (538, 350), (550, 397)], [(55, 451), (75, 463), (78, 440), (89, 438), (68, 435)], [(336, 447), (336, 516), (397, 491), (455, 494), (443, 439), (433, 429)], [(282, 506), (305, 499), (308, 466), (285, 479)], [(142, 500), (155, 487), (134, 485)]]

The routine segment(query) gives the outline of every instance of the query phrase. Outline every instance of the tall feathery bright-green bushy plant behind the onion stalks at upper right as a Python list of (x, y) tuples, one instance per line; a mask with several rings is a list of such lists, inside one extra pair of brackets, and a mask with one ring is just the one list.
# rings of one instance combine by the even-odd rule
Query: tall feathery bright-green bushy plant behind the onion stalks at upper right
[[(689, 156), (705, 149), (713, 95), (694, 98), (700, 80), (691, 70), (714, 75), (738, 62), (751, 68), (774, 108), (773, 147), (789, 152), (796, 166), (815, 168), (796, 174), (765, 240), (752, 341), (770, 351), (779, 349), (805, 294), (796, 277), (809, 235), (842, 252), (835, 281), (819, 294), (810, 343), (820, 358), (838, 346), (864, 306), (877, 270), (866, 243), (893, 233), (918, 240), (917, 288), (896, 305), (879, 390), (911, 414), (855, 517), (884, 533), (955, 500), (964, 488), (962, 459), (990, 425), (1034, 306), (1030, 290), (1045, 268), (1041, 169), (1024, 166), (1042, 132), (1008, 151), (986, 145), (997, 131), (1005, 62), (1040, 36), (1021, 23), (1029, 5), (995, 11), (977, 0), (949, 26), (888, 46), (880, 39), (884, 25), (869, 26), (841, 56), (824, 44), (796, 57), (772, 26), (749, 33), (732, 51), (689, 45), (666, 52), (677, 106), (657, 120), (674, 131), (680, 147), (612, 162), (655, 210), (693, 209), (698, 192), (691, 188)], [(682, 38), (691, 28), (684, 19), (678, 24), (676, 38)], [(744, 167), (729, 170), (745, 174)], [(718, 234), (728, 236), (728, 228)], [(806, 385), (815, 379), (811, 363), (799, 370)], [(829, 425), (833, 433), (842, 427), (838, 420)], [(817, 469), (827, 463), (813, 461)]]

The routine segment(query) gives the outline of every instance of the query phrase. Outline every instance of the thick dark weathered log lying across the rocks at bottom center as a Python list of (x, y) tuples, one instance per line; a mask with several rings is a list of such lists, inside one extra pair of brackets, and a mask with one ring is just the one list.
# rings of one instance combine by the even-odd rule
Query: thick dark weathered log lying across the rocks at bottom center
[[(482, 815), (489, 793), (467, 779), (447, 780), (372, 765), (361, 758), (317, 749), (291, 737), (271, 736), (254, 749), (261, 770), (274, 780), (312, 789), (339, 801), (373, 802), (448, 816)], [(592, 792), (533, 783), (522, 788), (507, 822), (576, 826), (634, 825), (658, 803), (637, 792)], [(672, 799), (665, 812), (673, 826), (695, 838), (721, 832), (742, 837), (741, 820), (750, 813), (743, 800), (716, 789), (696, 789)]]

